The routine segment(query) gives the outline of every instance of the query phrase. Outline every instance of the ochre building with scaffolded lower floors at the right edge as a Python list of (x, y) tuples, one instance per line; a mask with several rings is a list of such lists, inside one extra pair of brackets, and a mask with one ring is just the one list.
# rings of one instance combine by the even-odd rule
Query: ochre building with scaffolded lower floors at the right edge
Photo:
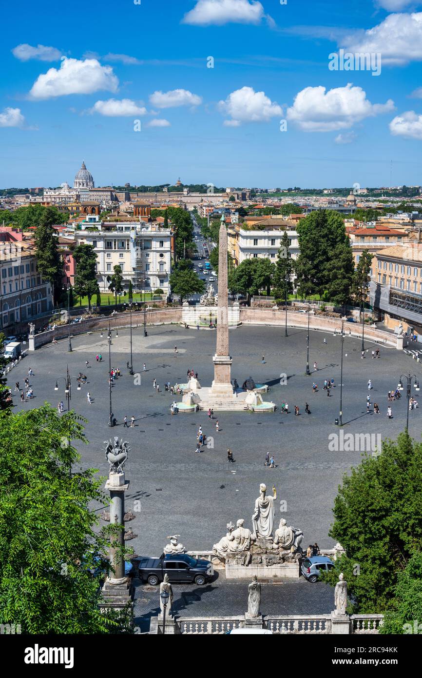
[(375, 256), (369, 298), (390, 328), (422, 334), (422, 243), (419, 240), (385, 247)]

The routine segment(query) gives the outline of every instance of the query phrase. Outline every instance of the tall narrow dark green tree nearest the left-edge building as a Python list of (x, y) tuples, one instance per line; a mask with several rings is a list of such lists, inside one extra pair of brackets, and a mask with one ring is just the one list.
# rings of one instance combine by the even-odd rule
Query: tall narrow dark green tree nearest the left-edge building
[(57, 232), (53, 228), (55, 223), (56, 208), (45, 207), (39, 214), (34, 239), (38, 271), (49, 281), (56, 304), (62, 297), (63, 260), (58, 250)]

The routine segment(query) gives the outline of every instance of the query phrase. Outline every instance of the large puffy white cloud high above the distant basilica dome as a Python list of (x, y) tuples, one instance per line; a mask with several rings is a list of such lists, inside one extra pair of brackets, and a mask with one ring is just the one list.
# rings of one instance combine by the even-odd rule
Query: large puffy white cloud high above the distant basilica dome
[(62, 58), (60, 68), (49, 68), (38, 76), (30, 90), (33, 99), (49, 99), (66, 94), (91, 94), (98, 89), (116, 92), (119, 80), (111, 66), (102, 66), (97, 59)]

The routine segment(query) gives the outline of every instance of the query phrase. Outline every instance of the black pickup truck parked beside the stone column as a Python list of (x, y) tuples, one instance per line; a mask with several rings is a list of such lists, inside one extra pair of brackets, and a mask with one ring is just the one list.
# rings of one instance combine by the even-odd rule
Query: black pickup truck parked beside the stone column
[(214, 568), (207, 560), (197, 560), (187, 553), (162, 554), (159, 558), (140, 557), (134, 562), (139, 564), (139, 577), (143, 582), (156, 586), (169, 575), (171, 584), (195, 582), (198, 586), (206, 584), (214, 574)]

